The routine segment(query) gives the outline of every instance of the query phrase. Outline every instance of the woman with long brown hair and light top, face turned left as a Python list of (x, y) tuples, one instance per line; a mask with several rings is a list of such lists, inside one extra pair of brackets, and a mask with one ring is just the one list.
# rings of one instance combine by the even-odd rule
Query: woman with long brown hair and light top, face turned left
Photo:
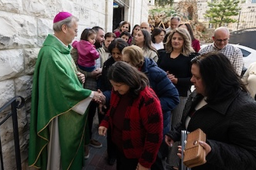
[(140, 29), (135, 36), (135, 44), (140, 46), (144, 51), (144, 56), (150, 59), (154, 59), (155, 62), (158, 60), (157, 49), (151, 45), (150, 32), (146, 29)]

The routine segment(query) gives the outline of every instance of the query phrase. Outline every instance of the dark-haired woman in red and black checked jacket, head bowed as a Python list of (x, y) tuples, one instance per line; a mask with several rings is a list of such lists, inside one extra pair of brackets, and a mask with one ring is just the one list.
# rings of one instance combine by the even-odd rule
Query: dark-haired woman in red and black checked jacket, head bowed
[(113, 87), (110, 108), (99, 134), (106, 135), (110, 127), (117, 170), (149, 169), (163, 139), (160, 101), (147, 76), (128, 63), (114, 63), (108, 78)]

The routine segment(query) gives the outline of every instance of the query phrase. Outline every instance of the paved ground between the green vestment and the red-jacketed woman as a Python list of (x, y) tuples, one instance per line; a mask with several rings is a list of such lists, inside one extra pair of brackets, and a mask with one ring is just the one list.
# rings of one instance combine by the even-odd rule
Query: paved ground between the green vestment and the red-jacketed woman
[(116, 170), (116, 164), (111, 166), (107, 163), (106, 137), (99, 136), (97, 122), (98, 120), (95, 118), (92, 130), (93, 137), (102, 143), (102, 148), (90, 147), (90, 156), (88, 159), (85, 159), (83, 170)]

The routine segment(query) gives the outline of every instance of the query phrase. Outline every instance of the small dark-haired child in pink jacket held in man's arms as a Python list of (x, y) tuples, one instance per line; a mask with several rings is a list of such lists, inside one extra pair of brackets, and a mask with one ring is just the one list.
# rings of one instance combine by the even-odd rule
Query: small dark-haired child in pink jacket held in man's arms
[(95, 70), (95, 59), (99, 58), (94, 46), (96, 35), (93, 29), (85, 29), (81, 33), (81, 40), (72, 43), (72, 46), (78, 49), (78, 67), (86, 72)]

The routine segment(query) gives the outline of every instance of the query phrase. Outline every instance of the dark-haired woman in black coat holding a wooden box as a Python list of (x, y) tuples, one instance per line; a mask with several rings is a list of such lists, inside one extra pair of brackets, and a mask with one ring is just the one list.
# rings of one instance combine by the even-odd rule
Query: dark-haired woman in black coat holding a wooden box
[(192, 59), (195, 91), (183, 111), (182, 122), (165, 136), (171, 146), (182, 130), (201, 128), (206, 142), (206, 163), (194, 169), (256, 169), (256, 102), (230, 61), (222, 53), (206, 53)]

